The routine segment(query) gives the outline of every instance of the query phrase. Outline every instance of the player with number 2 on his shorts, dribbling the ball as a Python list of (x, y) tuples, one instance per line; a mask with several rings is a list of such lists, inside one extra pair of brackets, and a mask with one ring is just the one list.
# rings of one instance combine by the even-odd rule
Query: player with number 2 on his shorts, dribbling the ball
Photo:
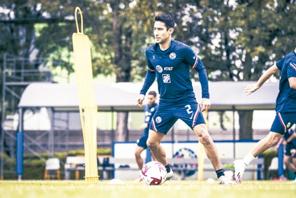
[[(142, 106), (147, 90), (154, 80), (157, 80), (160, 100), (158, 110), (149, 127), (147, 146), (156, 160), (165, 165), (168, 172), (166, 180), (173, 179), (174, 173), (170, 169), (165, 150), (160, 143), (172, 125), (181, 119), (193, 129), (199, 142), (205, 146), (206, 155), (213, 164), (219, 183), (233, 184), (224, 174), (218, 151), (209, 136), (205, 119), (201, 113), (211, 106), (205, 66), (188, 45), (172, 39), (175, 21), (170, 15), (158, 15), (154, 20), (156, 43), (146, 49), (148, 70), (142, 90), (136, 99), (137, 105)], [(200, 104), (196, 101), (193, 92), (190, 67), (198, 72), (200, 78), (202, 87)]]

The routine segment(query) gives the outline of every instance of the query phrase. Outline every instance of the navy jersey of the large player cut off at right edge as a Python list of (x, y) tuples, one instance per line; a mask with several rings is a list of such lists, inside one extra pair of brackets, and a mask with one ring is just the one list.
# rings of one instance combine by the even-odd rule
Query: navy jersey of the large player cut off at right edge
[(296, 53), (290, 52), (286, 57), (276, 62), (281, 71), (279, 94), (276, 98), (276, 112), (296, 112), (296, 90), (290, 87), (288, 78), (296, 77)]

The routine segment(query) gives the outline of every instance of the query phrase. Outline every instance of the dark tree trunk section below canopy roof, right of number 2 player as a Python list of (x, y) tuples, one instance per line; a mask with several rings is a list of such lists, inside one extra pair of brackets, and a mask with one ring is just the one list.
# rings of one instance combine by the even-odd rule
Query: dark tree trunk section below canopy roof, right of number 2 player
[(239, 114), (239, 139), (253, 139), (253, 110), (237, 111)]

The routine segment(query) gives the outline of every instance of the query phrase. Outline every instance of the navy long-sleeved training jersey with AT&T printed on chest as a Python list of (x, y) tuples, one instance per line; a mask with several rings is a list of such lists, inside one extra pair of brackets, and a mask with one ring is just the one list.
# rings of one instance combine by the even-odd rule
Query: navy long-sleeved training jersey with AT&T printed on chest
[[(156, 73), (160, 102), (178, 104), (188, 100), (196, 101), (191, 83), (190, 67), (198, 71), (202, 85), (202, 98), (209, 98), (205, 66), (188, 45), (172, 40), (170, 47), (163, 51), (159, 48), (158, 43), (154, 43), (146, 49), (146, 57), (149, 70), (147, 74), (149, 72)], [(155, 76), (153, 78), (154, 81)], [(148, 90), (149, 86), (143, 85), (140, 93), (145, 94), (145, 90)]]

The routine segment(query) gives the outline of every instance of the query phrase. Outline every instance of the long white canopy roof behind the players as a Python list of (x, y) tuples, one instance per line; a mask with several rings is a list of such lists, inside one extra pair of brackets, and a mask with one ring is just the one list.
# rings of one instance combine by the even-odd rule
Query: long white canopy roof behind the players
[[(245, 96), (244, 87), (254, 82), (210, 82), (210, 110), (274, 109), (279, 83), (265, 83), (257, 92)], [(142, 83), (95, 84), (98, 111), (142, 111), (135, 105)], [(200, 100), (200, 83), (193, 84)], [(154, 83), (150, 90), (157, 90)], [(79, 107), (77, 85), (56, 83), (31, 83), (22, 93), (20, 108), (52, 107), (56, 111), (77, 111)]]

